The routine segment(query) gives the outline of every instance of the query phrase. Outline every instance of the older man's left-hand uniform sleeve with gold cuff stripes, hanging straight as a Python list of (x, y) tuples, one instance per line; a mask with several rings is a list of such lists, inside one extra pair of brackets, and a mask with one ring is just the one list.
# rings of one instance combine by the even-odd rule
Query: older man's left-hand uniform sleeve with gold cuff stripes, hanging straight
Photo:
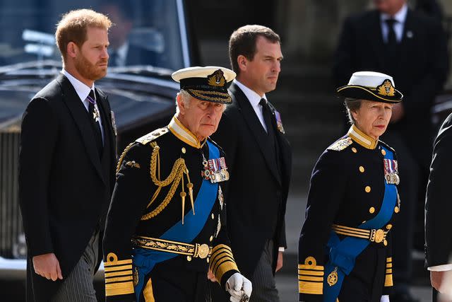
[(135, 301), (131, 238), (147, 206), (150, 148), (134, 144), (120, 161), (103, 240), (106, 301)]

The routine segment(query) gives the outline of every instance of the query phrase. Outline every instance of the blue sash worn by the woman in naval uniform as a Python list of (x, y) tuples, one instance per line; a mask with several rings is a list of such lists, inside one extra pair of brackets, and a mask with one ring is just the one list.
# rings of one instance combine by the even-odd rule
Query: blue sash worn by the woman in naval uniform
[[(393, 153), (388, 149), (382, 147), (386, 151), (384, 158), (393, 159)], [(372, 228), (382, 228), (391, 219), (391, 216), (396, 206), (397, 201), (397, 187), (396, 185), (389, 185), (384, 181), (385, 190), (383, 203), (381, 209), (376, 216), (364, 223), (358, 228), (370, 230)], [(335, 302), (339, 296), (340, 288), (344, 281), (345, 275), (352, 272), (355, 267), (355, 259), (361, 252), (370, 244), (369, 240), (355, 237), (345, 237), (342, 241), (338, 235), (331, 231), (330, 240), (328, 240), (327, 248), (329, 250), (329, 260), (325, 266), (325, 276), (323, 277), (323, 302)], [(330, 286), (328, 284), (328, 275), (331, 274), (337, 267), (338, 281)]]

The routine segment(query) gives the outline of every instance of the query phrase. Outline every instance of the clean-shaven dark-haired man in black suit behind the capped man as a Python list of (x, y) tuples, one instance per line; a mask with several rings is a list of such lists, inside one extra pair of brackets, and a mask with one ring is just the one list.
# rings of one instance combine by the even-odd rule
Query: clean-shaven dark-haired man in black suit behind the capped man
[[(253, 283), (250, 301), (279, 301), (274, 274), (283, 266), (285, 207), (292, 153), (280, 114), (266, 98), (280, 73), (280, 37), (246, 25), (230, 37), (237, 79), (213, 139), (226, 154), (227, 229), (240, 272)], [(215, 293), (213, 301), (220, 301)]]

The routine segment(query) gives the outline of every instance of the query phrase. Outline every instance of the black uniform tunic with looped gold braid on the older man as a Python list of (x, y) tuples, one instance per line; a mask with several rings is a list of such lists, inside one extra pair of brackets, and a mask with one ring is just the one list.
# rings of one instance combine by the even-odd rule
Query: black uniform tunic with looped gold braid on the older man
[[(104, 238), (107, 301), (135, 301), (133, 285), (138, 283), (139, 274), (135, 271), (135, 263), (133, 267), (131, 264), (133, 248), (141, 246), (137, 243), (154, 247), (158, 245), (158, 248), (166, 252), (177, 254), (169, 260), (158, 262), (146, 274), (145, 286), (140, 294), (143, 301), (151, 297), (155, 301), (202, 300), (209, 263), (222, 285), (232, 274), (238, 272), (226, 234), (222, 182), (219, 182), (215, 204), (208, 213), (206, 223), (194, 240), (180, 240), (182, 245), (134, 240), (160, 238), (169, 228), (179, 223), (182, 220), (182, 194), (186, 195), (184, 215), (195, 215), (196, 218), (196, 211), (193, 214), (191, 207), (189, 183), (193, 185), (193, 199), (196, 201), (203, 182), (203, 159), (208, 159), (208, 156), (206, 141), (198, 141), (176, 117), (173, 117), (168, 127), (137, 139), (124, 151), (118, 164), (117, 183)], [(181, 165), (181, 158), (185, 167)], [(179, 183), (174, 185), (181, 174)], [(166, 179), (168, 181), (165, 182)], [(164, 182), (160, 183), (160, 191), (158, 180)], [(157, 197), (153, 200), (156, 192)], [(184, 230), (191, 228), (189, 221), (184, 221), (182, 226)], [(183, 243), (208, 245), (212, 252), (207, 257), (174, 252), (184, 251)], [(117, 274), (118, 270), (121, 273)], [(118, 277), (123, 279), (114, 279)]]

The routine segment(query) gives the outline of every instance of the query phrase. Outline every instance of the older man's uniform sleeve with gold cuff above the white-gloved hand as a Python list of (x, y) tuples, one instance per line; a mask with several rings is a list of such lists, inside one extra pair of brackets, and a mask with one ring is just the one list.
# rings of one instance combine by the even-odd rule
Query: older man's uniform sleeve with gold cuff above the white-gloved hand
[[(221, 191), (218, 196), (223, 199), (220, 195), (222, 195)], [(209, 262), (209, 269), (213, 272), (223, 289), (225, 289), (227, 279), (239, 272), (230, 248), (230, 240), (227, 236), (226, 207), (227, 204), (223, 204), (220, 211), (220, 223), (217, 226), (218, 233), (215, 234), (216, 238), (213, 240), (212, 255)]]

